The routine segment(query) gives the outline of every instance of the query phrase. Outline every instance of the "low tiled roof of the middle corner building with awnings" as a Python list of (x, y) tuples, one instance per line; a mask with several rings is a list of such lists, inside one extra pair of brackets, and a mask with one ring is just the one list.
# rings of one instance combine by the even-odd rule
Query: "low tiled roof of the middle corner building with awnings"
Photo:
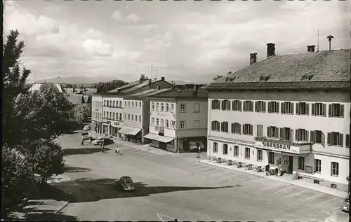
[(193, 88), (186, 90), (168, 90), (167, 92), (159, 93), (157, 95), (150, 95), (149, 97), (159, 98), (207, 98), (207, 90), (199, 88), (197, 92)]

